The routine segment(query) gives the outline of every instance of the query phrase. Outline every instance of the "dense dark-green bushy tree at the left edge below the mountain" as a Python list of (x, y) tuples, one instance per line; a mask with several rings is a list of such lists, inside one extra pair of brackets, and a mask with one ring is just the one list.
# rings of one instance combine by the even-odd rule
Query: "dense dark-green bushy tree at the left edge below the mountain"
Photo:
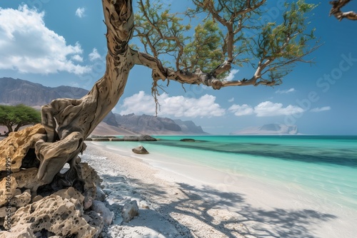
[(19, 104), (0, 105), (0, 125), (5, 125), (9, 132), (19, 130), (21, 126), (41, 123), (41, 113), (34, 108)]

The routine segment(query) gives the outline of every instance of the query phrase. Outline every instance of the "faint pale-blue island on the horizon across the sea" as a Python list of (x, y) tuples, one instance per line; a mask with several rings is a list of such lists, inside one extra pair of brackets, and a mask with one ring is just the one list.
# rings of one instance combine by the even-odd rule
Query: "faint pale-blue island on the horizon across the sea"
[(297, 135), (296, 125), (267, 124), (261, 127), (251, 127), (238, 130), (231, 135)]

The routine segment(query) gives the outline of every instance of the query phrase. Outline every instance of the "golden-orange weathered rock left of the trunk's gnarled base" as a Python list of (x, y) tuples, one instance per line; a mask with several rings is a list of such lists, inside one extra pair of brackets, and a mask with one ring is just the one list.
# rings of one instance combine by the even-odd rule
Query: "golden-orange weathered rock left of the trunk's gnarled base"
[[(34, 143), (45, 137), (46, 131), (41, 124), (25, 128), (15, 133), (10, 133), (9, 137), (0, 141), (0, 171), (6, 170), (6, 158), (11, 159), (11, 171), (16, 171), (21, 167), (21, 162), (30, 148), (34, 148)], [(37, 134), (37, 135), (36, 135)]]

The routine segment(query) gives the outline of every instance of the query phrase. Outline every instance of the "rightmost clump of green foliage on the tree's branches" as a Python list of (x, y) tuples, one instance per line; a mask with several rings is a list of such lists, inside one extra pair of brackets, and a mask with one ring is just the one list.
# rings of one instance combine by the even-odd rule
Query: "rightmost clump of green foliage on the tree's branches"
[[(313, 40), (314, 29), (306, 33), (308, 22), (306, 14), (314, 9), (314, 4), (303, 0), (286, 3), (281, 24), (268, 22), (262, 26), (256, 41), (254, 56), (260, 61), (274, 61), (269, 65), (269, 78), (282, 78), (291, 71), (293, 63), (303, 61), (308, 53), (308, 42)], [(266, 71), (267, 72), (267, 71)]]

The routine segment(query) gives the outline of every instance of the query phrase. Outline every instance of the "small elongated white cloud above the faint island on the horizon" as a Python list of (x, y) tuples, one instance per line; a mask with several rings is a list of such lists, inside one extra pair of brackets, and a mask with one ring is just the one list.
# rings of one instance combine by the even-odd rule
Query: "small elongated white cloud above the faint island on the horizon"
[(237, 116), (256, 114), (257, 117), (303, 113), (303, 108), (299, 108), (298, 106), (288, 105), (284, 108), (282, 103), (272, 103), (271, 101), (259, 103), (254, 108), (246, 104), (233, 104), (228, 110)]

